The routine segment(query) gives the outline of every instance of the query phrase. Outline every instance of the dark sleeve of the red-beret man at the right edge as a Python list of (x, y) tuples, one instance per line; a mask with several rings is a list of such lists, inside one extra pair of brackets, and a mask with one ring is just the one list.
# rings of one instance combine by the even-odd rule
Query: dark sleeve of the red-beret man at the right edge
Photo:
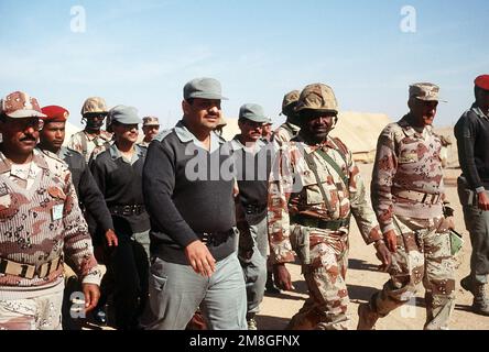
[(476, 167), (476, 158), (474, 157), (474, 145), (477, 136), (477, 127), (470, 119), (472, 113), (465, 113), (455, 125), (454, 132), (457, 139), (458, 161), (461, 172), (467, 177), (467, 182), (471, 189), (483, 187), (479, 173)]

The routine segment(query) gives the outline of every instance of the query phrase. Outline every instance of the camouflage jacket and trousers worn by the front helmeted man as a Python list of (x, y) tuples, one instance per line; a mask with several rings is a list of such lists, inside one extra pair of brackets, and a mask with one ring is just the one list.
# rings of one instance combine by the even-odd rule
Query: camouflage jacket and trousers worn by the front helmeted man
[[(348, 185), (345, 185), (341, 175), (338, 175), (330, 164), (315, 153), (318, 148), (335, 160), (348, 175)], [(313, 156), (322, 185), (318, 185), (303, 153)], [(346, 161), (341, 154), (346, 155)], [(324, 187), (333, 211), (328, 211), (319, 187)], [(345, 285), (348, 226), (329, 230), (291, 226), (290, 220), (291, 217), (341, 220), (348, 219), (352, 213), (366, 243), (381, 239), (376, 216), (368, 202), (366, 188), (351, 152), (339, 140), (329, 138), (322, 145), (309, 146), (301, 136), (284, 144), (279, 151), (270, 176), (268, 207), (271, 261), (293, 262), (295, 251), (303, 264), (312, 299), (293, 319), (292, 328), (348, 327), (348, 293)]]

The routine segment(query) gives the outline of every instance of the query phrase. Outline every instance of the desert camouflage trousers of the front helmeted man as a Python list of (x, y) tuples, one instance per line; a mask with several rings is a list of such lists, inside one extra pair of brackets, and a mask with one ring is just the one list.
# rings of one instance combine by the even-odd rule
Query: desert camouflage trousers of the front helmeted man
[(295, 243), (295, 251), (302, 262), (309, 297), (292, 318), (287, 329), (347, 330), (350, 321), (346, 315), (349, 298), (345, 282), (348, 234), (300, 226), (295, 226), (293, 232), (302, 232), (298, 238), (305, 238), (308, 242), (306, 258), (300, 254), (304, 253), (300, 250), (301, 243)]

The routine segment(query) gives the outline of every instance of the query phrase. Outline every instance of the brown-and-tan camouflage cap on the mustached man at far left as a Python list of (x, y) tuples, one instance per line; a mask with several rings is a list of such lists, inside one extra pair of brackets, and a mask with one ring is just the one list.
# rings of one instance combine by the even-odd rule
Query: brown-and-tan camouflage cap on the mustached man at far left
[(0, 101), (0, 112), (9, 118), (45, 118), (37, 99), (22, 91), (14, 91)]

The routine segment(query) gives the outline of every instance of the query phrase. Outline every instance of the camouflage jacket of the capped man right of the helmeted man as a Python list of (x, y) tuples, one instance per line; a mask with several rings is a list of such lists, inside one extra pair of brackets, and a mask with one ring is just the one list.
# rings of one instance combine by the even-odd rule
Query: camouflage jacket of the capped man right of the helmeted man
[[(417, 132), (408, 123), (408, 116), (389, 124), (380, 134), (371, 197), (380, 228), (393, 230), (393, 213), (411, 218), (435, 218), (443, 212), (444, 185), (441, 162), (442, 142), (432, 127)], [(402, 196), (416, 191), (439, 197), (434, 202), (416, 201)]]

